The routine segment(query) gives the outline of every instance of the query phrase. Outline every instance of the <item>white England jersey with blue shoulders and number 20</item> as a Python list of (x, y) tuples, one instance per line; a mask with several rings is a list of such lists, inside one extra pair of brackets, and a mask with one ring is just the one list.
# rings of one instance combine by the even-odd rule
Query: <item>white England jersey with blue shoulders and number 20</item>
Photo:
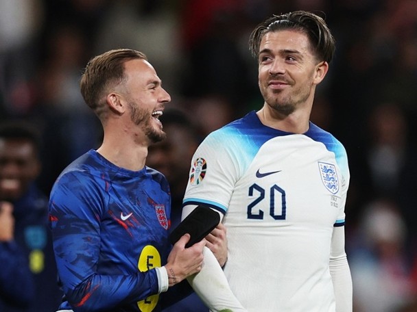
[(335, 311), (331, 237), (344, 225), (348, 181), (333, 135), (312, 123), (304, 134), (279, 131), (251, 112), (199, 146), (184, 205), (224, 213), (224, 272), (248, 311)]

